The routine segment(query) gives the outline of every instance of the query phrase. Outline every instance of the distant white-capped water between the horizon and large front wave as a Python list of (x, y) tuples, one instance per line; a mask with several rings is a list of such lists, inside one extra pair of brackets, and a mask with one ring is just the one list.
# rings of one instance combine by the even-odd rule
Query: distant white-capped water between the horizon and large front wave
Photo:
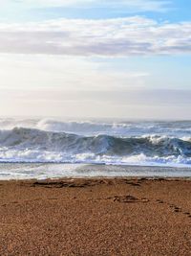
[(191, 121), (130, 122), (119, 120), (53, 120), (0, 118), (0, 129), (36, 128), (46, 131), (68, 132), (78, 135), (107, 134), (114, 136), (141, 136), (158, 134), (173, 137), (191, 136)]

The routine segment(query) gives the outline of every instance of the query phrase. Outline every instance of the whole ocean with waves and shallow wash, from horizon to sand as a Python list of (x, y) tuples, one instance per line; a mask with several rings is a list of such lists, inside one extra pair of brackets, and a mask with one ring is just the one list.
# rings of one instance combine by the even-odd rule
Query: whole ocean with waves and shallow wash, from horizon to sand
[(1, 118), (0, 163), (0, 179), (190, 176), (191, 121)]

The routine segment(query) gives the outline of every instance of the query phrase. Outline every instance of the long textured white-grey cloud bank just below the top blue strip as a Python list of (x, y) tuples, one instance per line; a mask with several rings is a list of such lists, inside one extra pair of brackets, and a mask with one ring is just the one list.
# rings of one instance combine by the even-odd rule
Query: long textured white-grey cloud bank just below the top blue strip
[(158, 23), (133, 16), (0, 24), (0, 52), (66, 56), (191, 53), (191, 22)]

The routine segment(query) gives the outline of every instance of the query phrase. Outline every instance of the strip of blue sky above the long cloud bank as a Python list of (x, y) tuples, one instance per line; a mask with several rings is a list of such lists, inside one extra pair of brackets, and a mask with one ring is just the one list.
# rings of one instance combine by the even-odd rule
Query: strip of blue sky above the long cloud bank
[[(67, 18), (117, 18), (141, 14), (169, 22), (189, 21), (189, 0), (153, 1), (14, 1), (2, 0), (2, 21), (34, 21)], [(55, 2), (55, 4), (53, 3)], [(71, 2), (71, 4), (70, 4)], [(91, 4), (92, 2), (92, 4)], [(126, 3), (130, 4), (126, 4)], [(137, 4), (132, 4), (132, 3)], [(67, 3), (67, 4), (66, 4)], [(124, 4), (125, 3), (125, 4)], [(146, 4), (144, 4), (146, 3)], [(148, 3), (148, 4), (147, 4)], [(153, 7), (152, 7), (153, 6)]]

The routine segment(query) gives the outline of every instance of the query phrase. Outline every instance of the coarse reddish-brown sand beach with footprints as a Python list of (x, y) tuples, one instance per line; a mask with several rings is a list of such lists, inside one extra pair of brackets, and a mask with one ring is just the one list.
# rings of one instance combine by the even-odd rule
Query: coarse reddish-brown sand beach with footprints
[(191, 255), (191, 181), (0, 181), (0, 255)]

